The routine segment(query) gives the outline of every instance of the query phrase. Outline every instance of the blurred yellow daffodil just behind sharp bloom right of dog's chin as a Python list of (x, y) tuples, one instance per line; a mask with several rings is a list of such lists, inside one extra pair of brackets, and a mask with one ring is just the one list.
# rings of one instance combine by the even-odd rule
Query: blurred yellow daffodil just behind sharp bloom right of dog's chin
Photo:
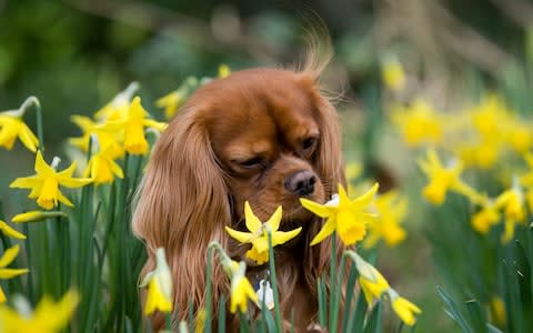
[(406, 199), (400, 198), (395, 191), (390, 191), (378, 195), (374, 205), (380, 218), (369, 222), (369, 235), (364, 240), (364, 248), (373, 248), (381, 239), (389, 246), (398, 245), (406, 238), (405, 230), (400, 226), (408, 210)]

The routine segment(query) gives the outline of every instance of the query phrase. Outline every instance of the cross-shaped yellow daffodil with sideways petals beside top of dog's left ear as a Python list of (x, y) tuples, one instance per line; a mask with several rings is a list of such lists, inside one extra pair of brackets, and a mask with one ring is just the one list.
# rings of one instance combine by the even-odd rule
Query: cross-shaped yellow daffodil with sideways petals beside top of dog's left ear
[(165, 123), (157, 122), (148, 118), (148, 112), (141, 105), (141, 98), (135, 97), (128, 113), (121, 120), (108, 121), (105, 125), (109, 129), (124, 130), (124, 149), (130, 154), (145, 154), (148, 152), (148, 141), (144, 138), (144, 128), (153, 128), (157, 131), (163, 131)]

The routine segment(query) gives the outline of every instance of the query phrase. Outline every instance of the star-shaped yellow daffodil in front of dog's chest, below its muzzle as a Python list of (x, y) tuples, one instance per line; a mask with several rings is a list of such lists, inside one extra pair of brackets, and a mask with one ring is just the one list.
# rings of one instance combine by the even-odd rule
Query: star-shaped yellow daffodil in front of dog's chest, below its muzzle
[(247, 251), (247, 258), (254, 260), (258, 264), (263, 264), (269, 261), (269, 239), (266, 228), (270, 229), (272, 236), (272, 246), (283, 244), (293, 238), (295, 238), (302, 228), (298, 228), (291, 231), (278, 231), (280, 228), (282, 216), (282, 209), (278, 206), (275, 212), (263, 224), (250, 208), (250, 203), (244, 203), (244, 219), (247, 229), (250, 232), (242, 232), (225, 226), (225, 231), (233, 239), (241, 243), (251, 243), (252, 249)]

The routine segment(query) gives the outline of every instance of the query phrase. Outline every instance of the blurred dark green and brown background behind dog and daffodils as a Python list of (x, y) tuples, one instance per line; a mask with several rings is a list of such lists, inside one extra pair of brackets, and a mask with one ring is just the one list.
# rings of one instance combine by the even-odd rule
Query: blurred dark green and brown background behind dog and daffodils
[[(141, 83), (145, 108), (188, 75), (290, 65), (304, 50), (305, 29), (328, 27), (335, 57), (324, 83), (341, 94), (346, 160), (390, 186), (412, 173), (398, 140), (382, 124), (380, 63), (393, 54), (418, 78), (413, 94), (452, 107), (473, 91), (501, 88), (512, 107), (530, 112), (533, 4), (526, 0), (315, 0), (315, 1), (24, 1), (0, 0), (0, 110), (37, 95), (44, 114), (47, 149), (64, 155), (79, 134), (70, 114), (92, 114), (131, 81)], [(504, 84), (503, 84), (503, 83)], [(32, 117), (26, 117), (34, 129)], [(372, 128), (372, 131), (369, 129)], [(378, 128), (378, 130), (375, 130)], [(23, 209), (23, 194), (9, 192), (13, 178), (31, 173), (32, 155), (18, 143), (0, 150), (0, 200), (8, 216)], [(409, 178), (412, 191), (421, 179)], [(410, 186), (405, 186), (409, 191)], [(418, 332), (455, 332), (442, 311), (426, 231), (411, 209), (408, 241), (380, 249), (379, 268), (392, 285), (419, 304)]]

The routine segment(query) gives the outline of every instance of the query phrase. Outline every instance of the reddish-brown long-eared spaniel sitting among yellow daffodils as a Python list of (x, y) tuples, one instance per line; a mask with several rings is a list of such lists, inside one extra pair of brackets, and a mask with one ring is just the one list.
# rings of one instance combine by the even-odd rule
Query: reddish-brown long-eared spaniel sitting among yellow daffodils
[[(190, 304), (193, 311), (205, 304), (211, 241), (232, 259), (244, 260), (249, 248), (230, 239), (224, 226), (245, 230), (249, 201), (261, 221), (282, 205), (280, 230), (302, 226), (296, 239), (274, 249), (280, 307), (284, 324), (292, 314), (298, 332), (316, 321), (316, 279), (329, 271), (331, 243), (310, 248), (323, 221), (299, 199), (325, 202), (338, 183), (345, 186), (338, 113), (320, 88), (330, 58), (310, 52), (298, 70), (257, 68), (213, 80), (194, 92), (155, 143), (132, 229), (148, 251), (142, 274), (154, 269), (155, 249), (165, 249), (174, 320), (185, 319)], [(268, 263), (248, 265), (247, 275), (257, 285)], [(211, 278), (215, 312), (220, 295), (229, 296), (230, 290), (217, 260)], [(152, 323), (161, 326), (162, 316)]]

